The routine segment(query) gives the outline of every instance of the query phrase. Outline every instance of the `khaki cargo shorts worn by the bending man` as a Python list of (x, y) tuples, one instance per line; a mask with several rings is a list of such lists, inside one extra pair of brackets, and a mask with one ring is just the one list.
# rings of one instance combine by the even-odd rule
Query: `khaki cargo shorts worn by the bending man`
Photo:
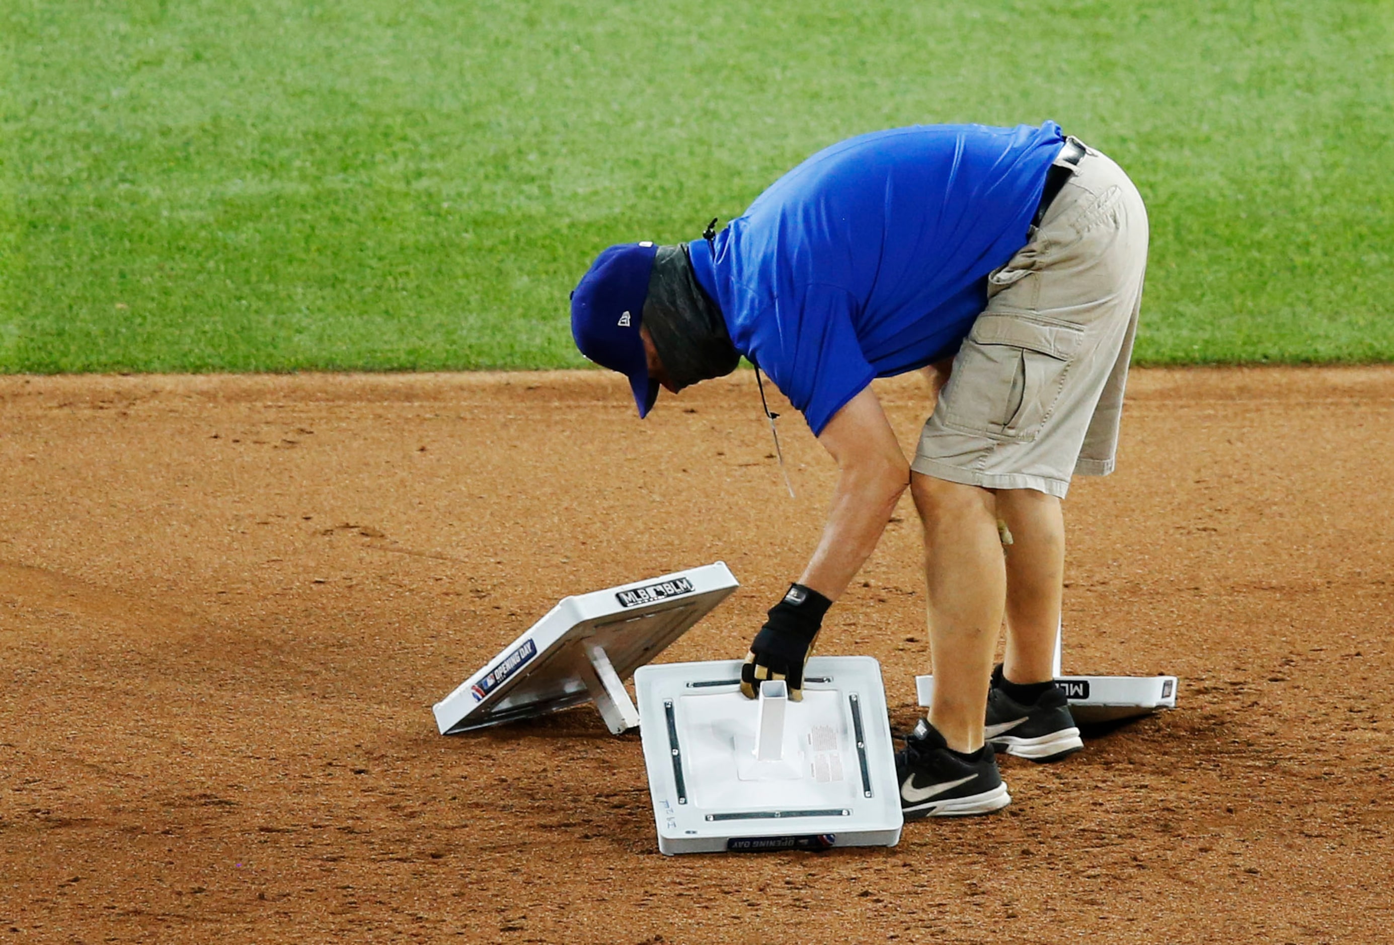
[(1030, 241), (988, 275), (910, 468), (1059, 498), (1072, 474), (1112, 472), (1146, 268), (1142, 197), (1087, 148)]

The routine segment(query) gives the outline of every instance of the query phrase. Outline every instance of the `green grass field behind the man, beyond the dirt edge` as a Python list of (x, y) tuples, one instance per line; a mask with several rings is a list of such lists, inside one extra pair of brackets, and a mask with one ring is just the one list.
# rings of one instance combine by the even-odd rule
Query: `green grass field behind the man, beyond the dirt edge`
[(0, 371), (579, 365), (567, 290), (839, 138), (1052, 117), (1142, 362), (1394, 358), (1390, 0), (8, 0)]

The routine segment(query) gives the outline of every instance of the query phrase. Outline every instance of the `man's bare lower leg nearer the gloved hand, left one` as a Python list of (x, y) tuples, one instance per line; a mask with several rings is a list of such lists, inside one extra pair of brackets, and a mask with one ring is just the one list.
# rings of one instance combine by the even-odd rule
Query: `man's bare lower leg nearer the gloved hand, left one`
[(934, 700), (928, 719), (955, 751), (983, 747), (993, 651), (1002, 627), (1006, 569), (990, 489), (914, 472), (924, 524)]

